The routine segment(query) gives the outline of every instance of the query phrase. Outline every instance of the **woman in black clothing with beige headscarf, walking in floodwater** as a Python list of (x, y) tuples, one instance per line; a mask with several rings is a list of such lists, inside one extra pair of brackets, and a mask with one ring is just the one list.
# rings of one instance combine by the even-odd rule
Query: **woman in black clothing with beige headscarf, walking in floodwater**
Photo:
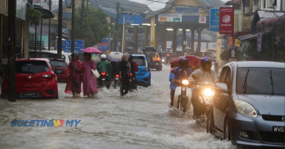
[(129, 57), (130, 55), (128, 53), (123, 54), (119, 66), (119, 78), (121, 79), (121, 88), (120, 88), (121, 96), (128, 94), (130, 88), (129, 76), (131, 72), (131, 65), (129, 63)]

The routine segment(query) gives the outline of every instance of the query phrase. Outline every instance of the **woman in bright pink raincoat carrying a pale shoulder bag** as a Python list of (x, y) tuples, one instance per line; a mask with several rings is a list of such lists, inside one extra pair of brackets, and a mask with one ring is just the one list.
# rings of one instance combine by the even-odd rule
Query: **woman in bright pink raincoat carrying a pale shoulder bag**
[(97, 68), (96, 63), (91, 59), (90, 53), (84, 53), (84, 67), (83, 72), (83, 96), (92, 97), (95, 93), (98, 93), (97, 83), (93, 77), (92, 70)]

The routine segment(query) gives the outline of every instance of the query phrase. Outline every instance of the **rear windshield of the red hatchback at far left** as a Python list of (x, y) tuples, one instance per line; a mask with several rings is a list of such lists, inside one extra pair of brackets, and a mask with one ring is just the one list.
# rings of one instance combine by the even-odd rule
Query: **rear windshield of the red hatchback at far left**
[(28, 60), (28, 61), (17, 61), (16, 62), (16, 73), (26, 74), (26, 73), (41, 73), (47, 72), (50, 69), (45, 61), (42, 60)]

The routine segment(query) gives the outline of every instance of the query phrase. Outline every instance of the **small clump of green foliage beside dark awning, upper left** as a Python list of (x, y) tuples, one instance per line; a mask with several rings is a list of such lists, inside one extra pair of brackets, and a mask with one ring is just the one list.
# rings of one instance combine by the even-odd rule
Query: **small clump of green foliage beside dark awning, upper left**
[(40, 19), (42, 18), (42, 14), (38, 10), (34, 10), (32, 7), (27, 7), (26, 10), (26, 20), (30, 21), (31, 24), (38, 25), (40, 23)]

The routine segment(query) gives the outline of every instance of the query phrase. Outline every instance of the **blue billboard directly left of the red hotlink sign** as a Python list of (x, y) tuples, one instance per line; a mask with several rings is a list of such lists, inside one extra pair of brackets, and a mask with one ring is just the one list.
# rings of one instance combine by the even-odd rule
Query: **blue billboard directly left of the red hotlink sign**
[(210, 31), (219, 32), (220, 26), (220, 9), (213, 9), (210, 10)]

